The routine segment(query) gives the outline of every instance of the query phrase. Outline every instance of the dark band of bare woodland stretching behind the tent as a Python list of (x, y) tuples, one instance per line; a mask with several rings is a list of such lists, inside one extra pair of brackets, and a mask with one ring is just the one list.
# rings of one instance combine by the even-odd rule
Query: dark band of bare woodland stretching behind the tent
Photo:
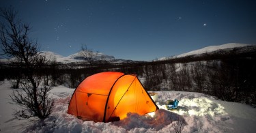
[[(218, 55), (205, 54), (198, 57), (183, 57), (167, 61), (137, 63), (97, 63), (94, 65), (61, 65), (48, 63), (38, 72), (44, 77), (44, 84), (76, 88), (81, 81), (92, 74), (106, 71), (137, 74), (144, 78), (143, 85), (148, 91), (193, 91), (213, 95), (221, 100), (242, 102), (256, 106), (256, 54)], [(0, 65), (1, 76), (13, 80), (18, 88), (22, 67)]]

